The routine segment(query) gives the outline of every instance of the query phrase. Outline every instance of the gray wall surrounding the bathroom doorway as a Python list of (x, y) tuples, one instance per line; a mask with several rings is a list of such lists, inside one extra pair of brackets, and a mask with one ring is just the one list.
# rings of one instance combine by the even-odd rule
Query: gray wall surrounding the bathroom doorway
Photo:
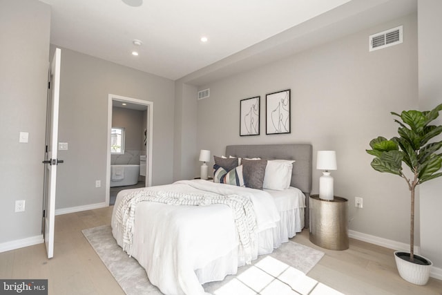
[(174, 93), (169, 79), (61, 48), (59, 142), (69, 150), (59, 151), (56, 208), (105, 201), (109, 94), (153, 102), (152, 182), (170, 183)]

